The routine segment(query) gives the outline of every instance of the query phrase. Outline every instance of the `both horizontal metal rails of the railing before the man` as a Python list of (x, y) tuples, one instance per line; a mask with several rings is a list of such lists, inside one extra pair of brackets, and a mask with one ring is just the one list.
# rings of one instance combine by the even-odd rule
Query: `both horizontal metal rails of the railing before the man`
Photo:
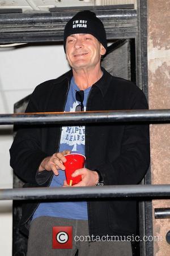
[[(169, 123), (170, 110), (126, 110), (87, 112), (43, 112), (1, 114), (2, 124), (75, 124), (75, 123)], [(88, 199), (88, 198), (167, 198), (170, 184), (116, 185), (104, 187), (14, 188), (0, 190), (0, 200)]]

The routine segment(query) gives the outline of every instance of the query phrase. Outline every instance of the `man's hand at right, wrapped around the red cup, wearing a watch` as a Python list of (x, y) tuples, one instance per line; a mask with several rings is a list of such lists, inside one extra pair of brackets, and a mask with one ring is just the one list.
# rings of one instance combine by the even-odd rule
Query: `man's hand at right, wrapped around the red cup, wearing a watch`
[[(87, 168), (81, 168), (72, 174), (72, 177), (76, 177), (78, 175), (82, 175), (82, 181), (73, 185), (73, 187), (84, 187), (84, 186), (95, 186), (99, 181), (99, 175), (96, 171), (91, 171)], [(64, 187), (69, 186), (66, 181), (64, 181)]]

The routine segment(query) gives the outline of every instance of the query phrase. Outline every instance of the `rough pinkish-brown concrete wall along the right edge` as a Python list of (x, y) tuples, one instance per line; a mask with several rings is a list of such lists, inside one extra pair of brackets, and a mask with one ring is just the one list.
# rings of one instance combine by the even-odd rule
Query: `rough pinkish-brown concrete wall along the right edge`
[[(170, 1), (148, 0), (148, 91), (150, 109), (170, 108)], [(152, 184), (170, 184), (170, 124), (152, 124), (151, 173)], [(170, 255), (165, 236), (170, 219), (154, 218), (154, 208), (170, 207), (169, 200), (153, 200), (154, 255)]]

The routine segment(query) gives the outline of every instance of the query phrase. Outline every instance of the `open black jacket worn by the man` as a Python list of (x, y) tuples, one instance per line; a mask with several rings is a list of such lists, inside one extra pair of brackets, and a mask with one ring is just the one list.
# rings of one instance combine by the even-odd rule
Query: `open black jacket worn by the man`
[[(103, 69), (103, 77), (90, 91), (86, 110), (146, 109), (142, 91), (130, 81), (112, 77)], [(26, 112), (63, 111), (72, 72), (37, 86)], [(59, 125), (35, 125), (20, 129), (10, 149), (11, 167), (27, 187), (49, 186), (52, 171), (37, 174), (41, 161), (57, 152), (61, 136)], [(98, 169), (105, 185), (138, 184), (150, 162), (148, 125), (103, 123), (86, 125), (86, 167)], [(136, 231), (137, 204), (129, 199), (88, 201), (90, 234), (132, 235)], [(25, 232), (37, 203), (24, 205), (20, 226)], [(24, 230), (25, 229), (25, 230)]]

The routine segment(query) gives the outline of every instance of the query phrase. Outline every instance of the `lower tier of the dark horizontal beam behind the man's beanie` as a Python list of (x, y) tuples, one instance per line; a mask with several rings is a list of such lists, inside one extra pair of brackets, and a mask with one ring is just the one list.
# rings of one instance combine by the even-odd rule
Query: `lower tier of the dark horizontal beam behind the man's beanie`
[[(36, 26), (26, 28), (4, 28), (1, 29), (0, 44), (12, 43), (49, 43), (49, 42), (63, 42), (63, 29), (58, 25), (55, 26)], [(137, 36), (137, 28), (122, 27), (113, 29), (105, 27), (107, 39), (131, 39)]]

